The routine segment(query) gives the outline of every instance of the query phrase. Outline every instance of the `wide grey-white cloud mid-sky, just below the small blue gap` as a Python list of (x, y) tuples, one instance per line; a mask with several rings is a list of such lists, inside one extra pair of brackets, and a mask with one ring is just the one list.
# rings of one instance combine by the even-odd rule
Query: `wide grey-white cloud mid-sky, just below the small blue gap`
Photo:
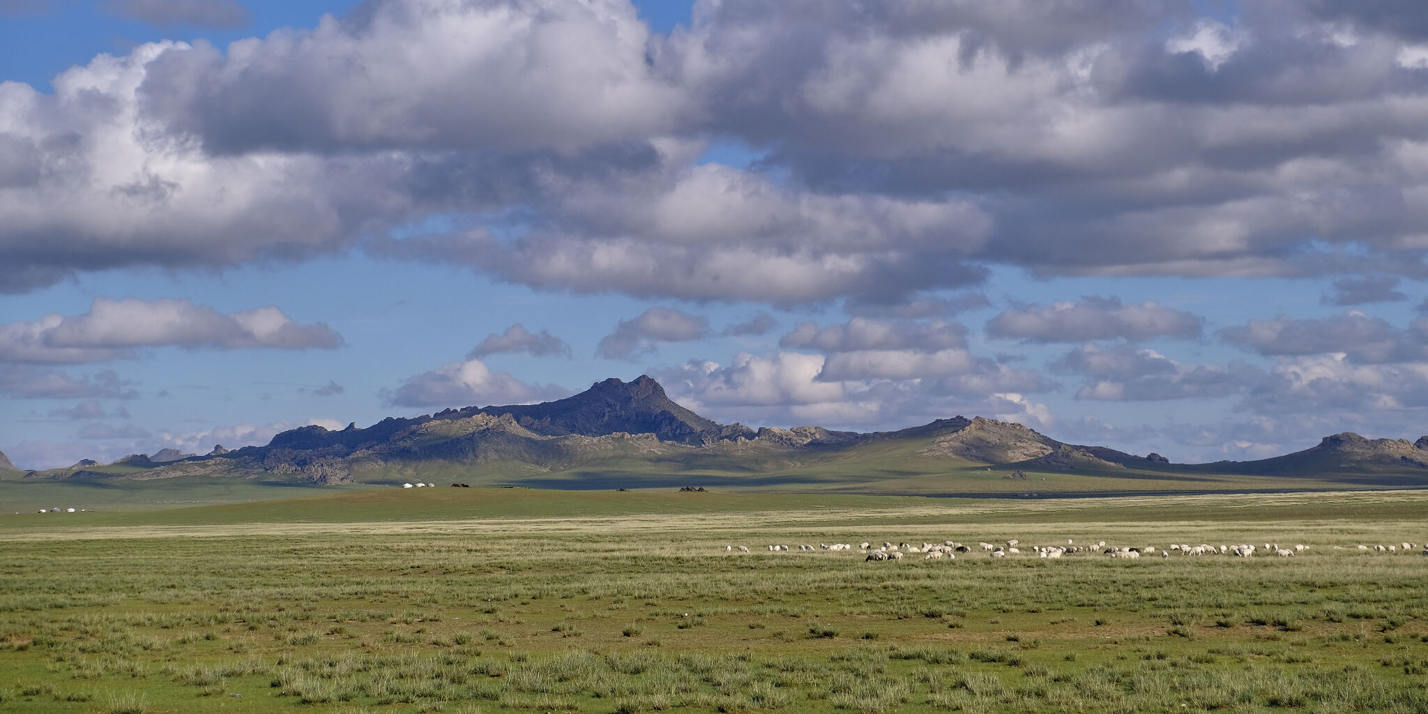
[(990, 226), (974, 201), (824, 196), (754, 171), (687, 166), (695, 156), (661, 141), (643, 170), (543, 177), (530, 197), (543, 224), (514, 238), (467, 230), (373, 250), (547, 290), (780, 306), (888, 301), (985, 277), (968, 260)]

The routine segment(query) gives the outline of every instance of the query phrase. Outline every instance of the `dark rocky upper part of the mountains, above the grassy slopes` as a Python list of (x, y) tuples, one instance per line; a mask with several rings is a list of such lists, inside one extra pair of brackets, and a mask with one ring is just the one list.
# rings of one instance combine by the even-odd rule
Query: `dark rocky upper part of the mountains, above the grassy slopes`
[[(139, 473), (123, 471), (131, 478), (243, 473), (314, 483), (344, 483), (353, 480), (354, 470), (426, 461), (508, 463), (523, 464), (521, 468), (527, 470), (561, 471), (607, 456), (664, 461), (675, 470), (691, 458), (717, 458), (721, 468), (757, 473), (840, 458), (840, 454), (855, 454), (865, 444), (897, 440), (928, 443), (920, 453), (932, 458), (1040, 471), (1114, 473), (1131, 467), (1292, 476), (1312, 470), (1315, 464), (1428, 470), (1428, 437), (1409, 443), (1345, 433), (1284, 457), (1187, 467), (1170, 464), (1157, 454), (1138, 457), (1107, 447), (1065, 444), (1022, 424), (984, 417), (958, 416), (871, 434), (823, 427), (764, 427), (754, 431), (737, 423), (718, 424), (690, 411), (670, 400), (648, 376), (630, 383), (604, 380), (580, 394), (543, 404), (450, 408), (414, 418), (388, 417), (367, 428), (348, 424), (338, 431), (308, 426), (284, 431), (263, 447), (228, 451), (214, 446), (201, 457), (169, 448), (153, 457), (133, 454), (116, 464), (141, 468)], [(31, 471), (26, 476), (121, 476), (90, 470), (97, 466), (84, 460), (70, 470)]]

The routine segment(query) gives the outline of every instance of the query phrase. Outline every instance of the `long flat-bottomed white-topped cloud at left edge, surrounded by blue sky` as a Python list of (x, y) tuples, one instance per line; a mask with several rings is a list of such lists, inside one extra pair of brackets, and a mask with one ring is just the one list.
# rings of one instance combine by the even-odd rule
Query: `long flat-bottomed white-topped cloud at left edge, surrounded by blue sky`
[(188, 300), (100, 297), (81, 316), (0, 324), (0, 360), (16, 363), (104, 361), (130, 356), (134, 347), (331, 350), (341, 344), (327, 324), (294, 323), (273, 306), (223, 314)]

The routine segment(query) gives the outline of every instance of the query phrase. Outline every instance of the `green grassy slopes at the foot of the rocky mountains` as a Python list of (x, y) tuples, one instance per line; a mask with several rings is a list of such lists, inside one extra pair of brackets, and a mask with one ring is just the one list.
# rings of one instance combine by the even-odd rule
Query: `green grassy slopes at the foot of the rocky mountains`
[[(403, 481), (428, 481), (446, 488), (454, 481), (476, 487), (526, 486), (557, 490), (613, 491), (615, 488), (677, 488), (703, 486), (717, 491), (778, 494), (1055, 494), (1117, 491), (1215, 491), (1277, 488), (1364, 488), (1424, 486), (1421, 470), (1377, 467), (1328, 468), (1304, 454), (1242, 464), (1248, 474), (1222, 473), (1224, 466), (1155, 466), (1102, 471), (1027, 471), (1030, 478), (1008, 480), (1011, 467), (988, 467), (958, 458), (930, 457), (921, 451), (931, 437), (887, 438), (853, 448), (827, 451), (725, 447), (691, 450), (670, 446), (654, 451), (614, 451), (578, 467), (548, 471), (524, 463), (461, 464), (424, 461), (388, 466), (356, 474), (358, 483), (343, 487), (303, 486), (273, 477), (176, 477), (137, 480), (146, 468), (94, 467), (117, 478), (20, 478), (21, 471), (0, 474), (0, 513), (33, 513), (39, 508), (74, 507), (136, 510), (287, 498), (297, 491), (346, 493)], [(1315, 470), (1317, 468), (1317, 470)], [(1255, 473), (1258, 471), (1258, 473)], [(1279, 476), (1279, 474), (1294, 476)]]

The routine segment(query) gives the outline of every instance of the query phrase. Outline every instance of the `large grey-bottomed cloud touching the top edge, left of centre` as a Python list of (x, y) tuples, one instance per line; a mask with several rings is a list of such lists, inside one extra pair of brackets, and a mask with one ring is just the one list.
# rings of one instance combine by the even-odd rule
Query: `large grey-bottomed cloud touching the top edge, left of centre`
[(645, 61), (647, 40), (621, 0), (367, 3), (227, 54), (166, 53), (143, 97), (220, 153), (574, 150), (665, 133), (693, 109)]

